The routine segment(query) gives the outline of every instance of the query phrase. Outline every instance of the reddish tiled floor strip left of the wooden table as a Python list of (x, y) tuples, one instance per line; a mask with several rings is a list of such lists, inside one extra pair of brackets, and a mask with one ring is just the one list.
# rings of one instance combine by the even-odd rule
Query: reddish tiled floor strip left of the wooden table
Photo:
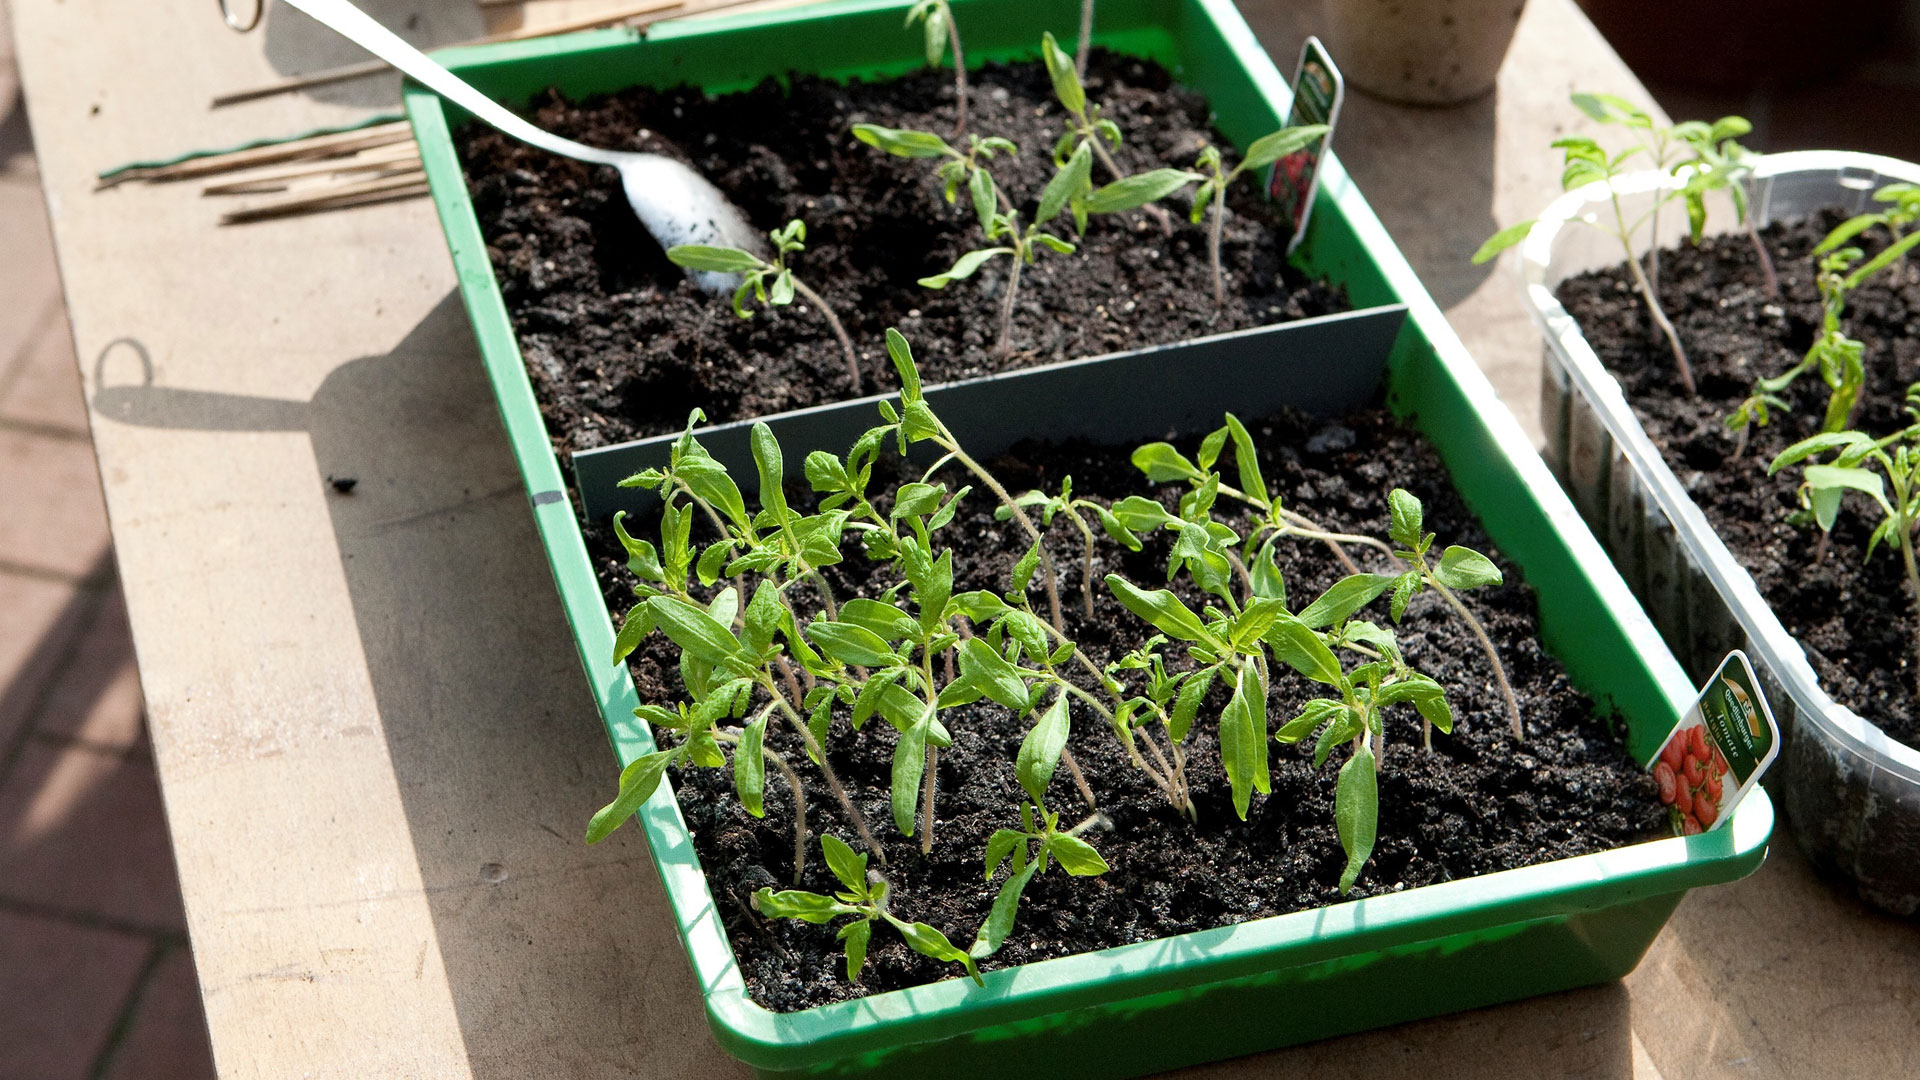
[(213, 1076), (0, 4), (0, 1080)]

